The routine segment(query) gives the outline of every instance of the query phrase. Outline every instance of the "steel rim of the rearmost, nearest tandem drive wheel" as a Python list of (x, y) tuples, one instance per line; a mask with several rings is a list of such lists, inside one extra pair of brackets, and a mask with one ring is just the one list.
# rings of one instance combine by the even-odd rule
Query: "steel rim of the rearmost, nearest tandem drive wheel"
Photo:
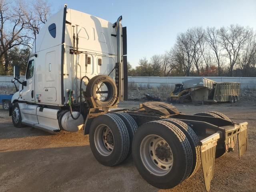
[[(160, 145), (160, 146), (159, 146)], [(168, 148), (170, 156), (160, 159), (157, 156), (157, 148)], [(160, 136), (148, 135), (140, 144), (140, 158), (145, 168), (156, 176), (164, 176), (170, 172), (173, 165), (173, 154), (169, 144)], [(166, 160), (167, 159), (167, 160)]]

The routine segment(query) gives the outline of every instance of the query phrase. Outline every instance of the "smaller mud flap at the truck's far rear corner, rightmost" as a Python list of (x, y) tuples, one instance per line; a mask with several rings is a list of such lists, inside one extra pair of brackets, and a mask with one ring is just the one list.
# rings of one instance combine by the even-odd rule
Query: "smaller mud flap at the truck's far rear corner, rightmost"
[(241, 158), (241, 156), (247, 150), (247, 123), (240, 124), (240, 133), (237, 134), (237, 138), (238, 138), (239, 158)]

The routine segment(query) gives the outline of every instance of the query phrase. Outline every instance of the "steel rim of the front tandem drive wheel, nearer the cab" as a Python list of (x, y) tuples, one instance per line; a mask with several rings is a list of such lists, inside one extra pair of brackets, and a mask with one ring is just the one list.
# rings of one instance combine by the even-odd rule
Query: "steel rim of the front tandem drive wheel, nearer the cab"
[[(112, 142), (110, 142), (112, 137)], [(110, 139), (108, 139), (110, 138)], [(105, 124), (100, 124), (94, 132), (94, 144), (102, 156), (109, 156), (114, 149), (114, 135)]]

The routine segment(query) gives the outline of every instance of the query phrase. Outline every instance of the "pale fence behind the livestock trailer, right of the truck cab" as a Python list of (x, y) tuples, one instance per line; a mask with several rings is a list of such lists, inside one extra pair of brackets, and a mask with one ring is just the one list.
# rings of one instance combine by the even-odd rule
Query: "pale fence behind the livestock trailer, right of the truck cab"
[[(132, 77), (128, 76), (128, 83), (138, 87), (159, 87), (163, 84), (182, 83), (183, 81), (200, 77)], [(216, 82), (240, 82), (241, 89), (256, 89), (256, 77), (206, 77)]]

